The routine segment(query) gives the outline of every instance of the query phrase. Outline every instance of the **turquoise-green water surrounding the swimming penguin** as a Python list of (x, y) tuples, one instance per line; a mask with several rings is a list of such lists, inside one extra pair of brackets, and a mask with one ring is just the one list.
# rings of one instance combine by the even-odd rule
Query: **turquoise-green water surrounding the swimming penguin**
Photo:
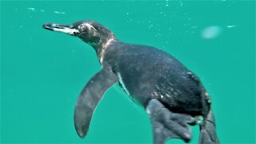
[(101, 66), (89, 45), (42, 24), (84, 19), (174, 55), (209, 91), (220, 141), (255, 143), (255, 2), (229, 0), (2, 1), (1, 143), (152, 143), (146, 112), (118, 85), (78, 138), (74, 105)]

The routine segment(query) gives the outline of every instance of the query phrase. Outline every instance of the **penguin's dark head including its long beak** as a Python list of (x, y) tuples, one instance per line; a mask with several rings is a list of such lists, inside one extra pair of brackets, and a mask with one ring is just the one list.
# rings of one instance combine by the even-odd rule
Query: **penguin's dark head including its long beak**
[(46, 23), (42, 27), (47, 30), (53, 30), (81, 38), (83, 42), (86, 42), (91, 46), (104, 46), (108, 40), (115, 38), (110, 30), (94, 21), (74, 22), (71, 25)]

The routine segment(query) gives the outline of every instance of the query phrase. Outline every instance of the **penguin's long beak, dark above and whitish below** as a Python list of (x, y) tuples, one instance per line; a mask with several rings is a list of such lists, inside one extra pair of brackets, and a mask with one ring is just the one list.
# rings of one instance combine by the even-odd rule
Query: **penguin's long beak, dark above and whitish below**
[(72, 25), (62, 25), (57, 23), (46, 23), (42, 26), (46, 30), (53, 30), (65, 34), (75, 35), (79, 33), (79, 30), (75, 29)]

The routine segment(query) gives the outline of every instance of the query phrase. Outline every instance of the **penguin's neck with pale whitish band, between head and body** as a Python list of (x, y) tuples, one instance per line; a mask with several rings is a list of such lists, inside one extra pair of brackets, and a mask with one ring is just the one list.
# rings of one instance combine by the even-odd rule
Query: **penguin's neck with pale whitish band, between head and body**
[(107, 38), (101, 38), (101, 41), (98, 43), (98, 45), (92, 45), (94, 47), (94, 50), (96, 51), (98, 60), (101, 64), (103, 62), (106, 49), (114, 42), (118, 42), (118, 39), (115, 38), (114, 35), (110, 35)]

